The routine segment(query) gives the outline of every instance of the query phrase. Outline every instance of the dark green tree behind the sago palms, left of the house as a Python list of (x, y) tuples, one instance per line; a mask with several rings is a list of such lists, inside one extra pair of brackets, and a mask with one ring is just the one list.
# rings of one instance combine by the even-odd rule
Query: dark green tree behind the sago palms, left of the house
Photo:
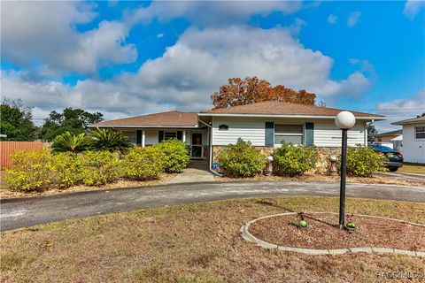
[(44, 141), (53, 139), (66, 132), (80, 134), (87, 131), (89, 124), (103, 120), (104, 115), (100, 112), (90, 113), (82, 109), (66, 108), (62, 113), (51, 111), (49, 118), (44, 121), (41, 128), (41, 138)]

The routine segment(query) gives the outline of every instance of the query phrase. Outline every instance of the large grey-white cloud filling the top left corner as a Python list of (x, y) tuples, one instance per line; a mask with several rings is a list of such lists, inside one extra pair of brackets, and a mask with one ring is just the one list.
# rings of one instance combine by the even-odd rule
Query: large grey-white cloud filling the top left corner
[(80, 33), (97, 15), (91, 4), (79, 2), (2, 2), (2, 57), (27, 67), (43, 66), (51, 73), (95, 73), (102, 65), (135, 61), (137, 50), (126, 44), (128, 26), (102, 21)]

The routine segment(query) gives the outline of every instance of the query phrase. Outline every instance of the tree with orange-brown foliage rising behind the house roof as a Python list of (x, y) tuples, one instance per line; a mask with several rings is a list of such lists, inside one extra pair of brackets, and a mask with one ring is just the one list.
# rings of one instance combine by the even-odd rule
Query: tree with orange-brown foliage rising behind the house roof
[(269, 81), (260, 80), (257, 77), (230, 78), (228, 84), (222, 85), (219, 91), (211, 96), (214, 108), (226, 108), (268, 100), (314, 105), (315, 98), (316, 95), (308, 93), (304, 89), (296, 91), (282, 85), (272, 87)]

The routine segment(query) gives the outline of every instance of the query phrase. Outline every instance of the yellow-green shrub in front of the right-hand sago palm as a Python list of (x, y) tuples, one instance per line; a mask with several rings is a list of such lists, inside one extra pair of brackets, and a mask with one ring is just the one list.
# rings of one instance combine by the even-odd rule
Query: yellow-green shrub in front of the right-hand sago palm
[(109, 151), (86, 151), (82, 155), (82, 183), (87, 186), (102, 186), (120, 177), (120, 160)]

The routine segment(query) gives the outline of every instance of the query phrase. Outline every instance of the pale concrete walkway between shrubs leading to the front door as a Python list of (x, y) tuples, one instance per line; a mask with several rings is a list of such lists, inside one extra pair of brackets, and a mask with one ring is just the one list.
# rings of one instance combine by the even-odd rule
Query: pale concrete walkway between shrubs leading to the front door
[(184, 169), (182, 173), (168, 180), (166, 184), (177, 183), (197, 183), (197, 182), (213, 182), (214, 175), (208, 170), (208, 164), (205, 161), (191, 161), (189, 167)]

